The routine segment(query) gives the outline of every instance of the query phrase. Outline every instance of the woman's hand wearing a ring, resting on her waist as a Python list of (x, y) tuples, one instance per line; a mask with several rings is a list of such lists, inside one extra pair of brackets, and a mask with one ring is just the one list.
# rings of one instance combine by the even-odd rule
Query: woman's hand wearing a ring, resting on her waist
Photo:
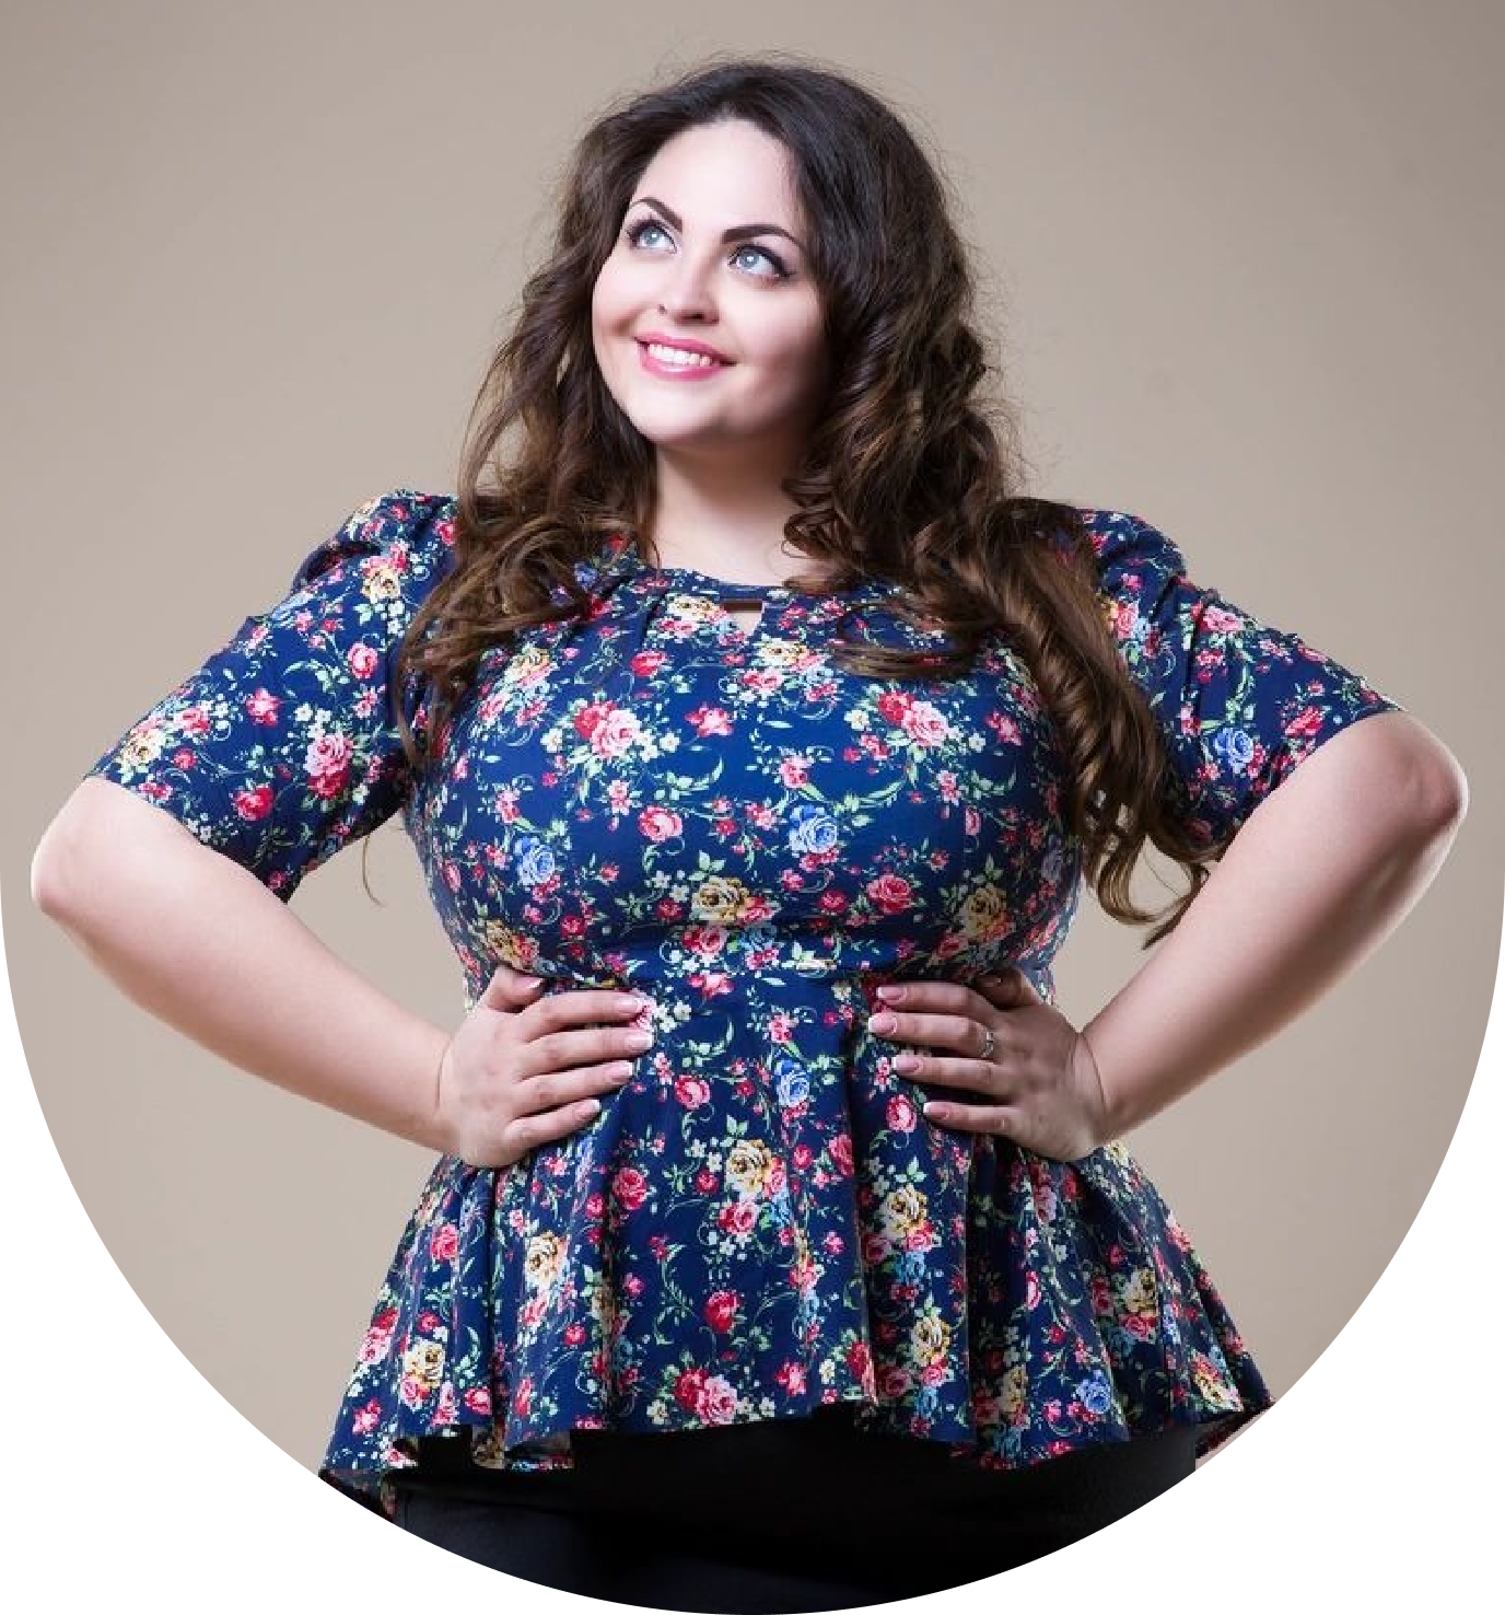
[(983, 977), (979, 988), (895, 982), (877, 992), (893, 1026), (875, 1011), (869, 1030), (927, 1050), (896, 1053), (893, 1068), (901, 1077), (985, 1097), (980, 1105), (927, 1103), (925, 1118), (962, 1132), (998, 1134), (1058, 1161), (1077, 1161), (1106, 1143), (1113, 1135), (1108, 1103), (1085, 1035), (1045, 1003), (1022, 971)]

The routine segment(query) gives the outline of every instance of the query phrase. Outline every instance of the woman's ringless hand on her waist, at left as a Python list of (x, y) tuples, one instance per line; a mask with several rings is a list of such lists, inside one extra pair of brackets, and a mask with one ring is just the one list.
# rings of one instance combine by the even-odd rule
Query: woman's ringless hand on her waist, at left
[(646, 1000), (612, 987), (539, 998), (543, 982), (525, 980), (502, 964), (439, 1063), (439, 1129), (470, 1166), (512, 1166), (578, 1132), (601, 1110), (596, 1095), (615, 1093), (648, 1047), (631, 1043), (649, 1026)]

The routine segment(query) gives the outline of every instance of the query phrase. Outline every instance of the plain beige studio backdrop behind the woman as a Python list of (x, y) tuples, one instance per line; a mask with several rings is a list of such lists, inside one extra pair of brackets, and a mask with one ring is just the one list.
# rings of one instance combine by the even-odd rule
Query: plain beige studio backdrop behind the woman
[[(885, 90), (954, 181), (1035, 491), (1148, 517), (1200, 581), (1366, 672), (1469, 774), (1471, 817), (1406, 925), (1132, 1139), (1284, 1395), (1426, 1200), (1499, 963), (1500, 8), (0, 16), (6, 964), (82, 1208), (203, 1379), (313, 1468), (428, 1158), (131, 1006), (31, 908), (31, 851), (94, 757), (355, 505), (452, 488), (544, 186), (606, 99), (783, 47)], [(370, 869), (383, 906), (347, 853), (297, 912), (454, 1024), (460, 972), (396, 824)], [(1085, 1019), (1135, 964), (1135, 933), (1088, 904), (1063, 1006)], [(36, 1260), (69, 1265), (47, 1307), (87, 1308), (78, 1258)], [(92, 1324), (103, 1355), (121, 1328)], [(1361, 1366), (1363, 1342), (1340, 1350)]]

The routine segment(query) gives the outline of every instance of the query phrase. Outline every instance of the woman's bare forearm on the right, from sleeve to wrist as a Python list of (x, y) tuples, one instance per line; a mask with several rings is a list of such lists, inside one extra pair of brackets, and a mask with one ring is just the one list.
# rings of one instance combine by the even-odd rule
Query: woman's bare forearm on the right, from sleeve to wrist
[(1306, 757), (1082, 1029), (1106, 1135), (1266, 1042), (1373, 953), (1431, 885), (1466, 811), (1457, 759), (1408, 714), (1369, 717)]

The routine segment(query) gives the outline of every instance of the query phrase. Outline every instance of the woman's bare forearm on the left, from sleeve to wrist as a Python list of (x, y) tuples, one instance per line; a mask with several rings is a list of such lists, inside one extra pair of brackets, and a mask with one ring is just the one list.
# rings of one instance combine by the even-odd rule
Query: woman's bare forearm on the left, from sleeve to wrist
[(42, 837), (32, 900), (134, 1003), (278, 1087), (442, 1150), (449, 1034), (344, 964), (249, 870), (108, 780)]

